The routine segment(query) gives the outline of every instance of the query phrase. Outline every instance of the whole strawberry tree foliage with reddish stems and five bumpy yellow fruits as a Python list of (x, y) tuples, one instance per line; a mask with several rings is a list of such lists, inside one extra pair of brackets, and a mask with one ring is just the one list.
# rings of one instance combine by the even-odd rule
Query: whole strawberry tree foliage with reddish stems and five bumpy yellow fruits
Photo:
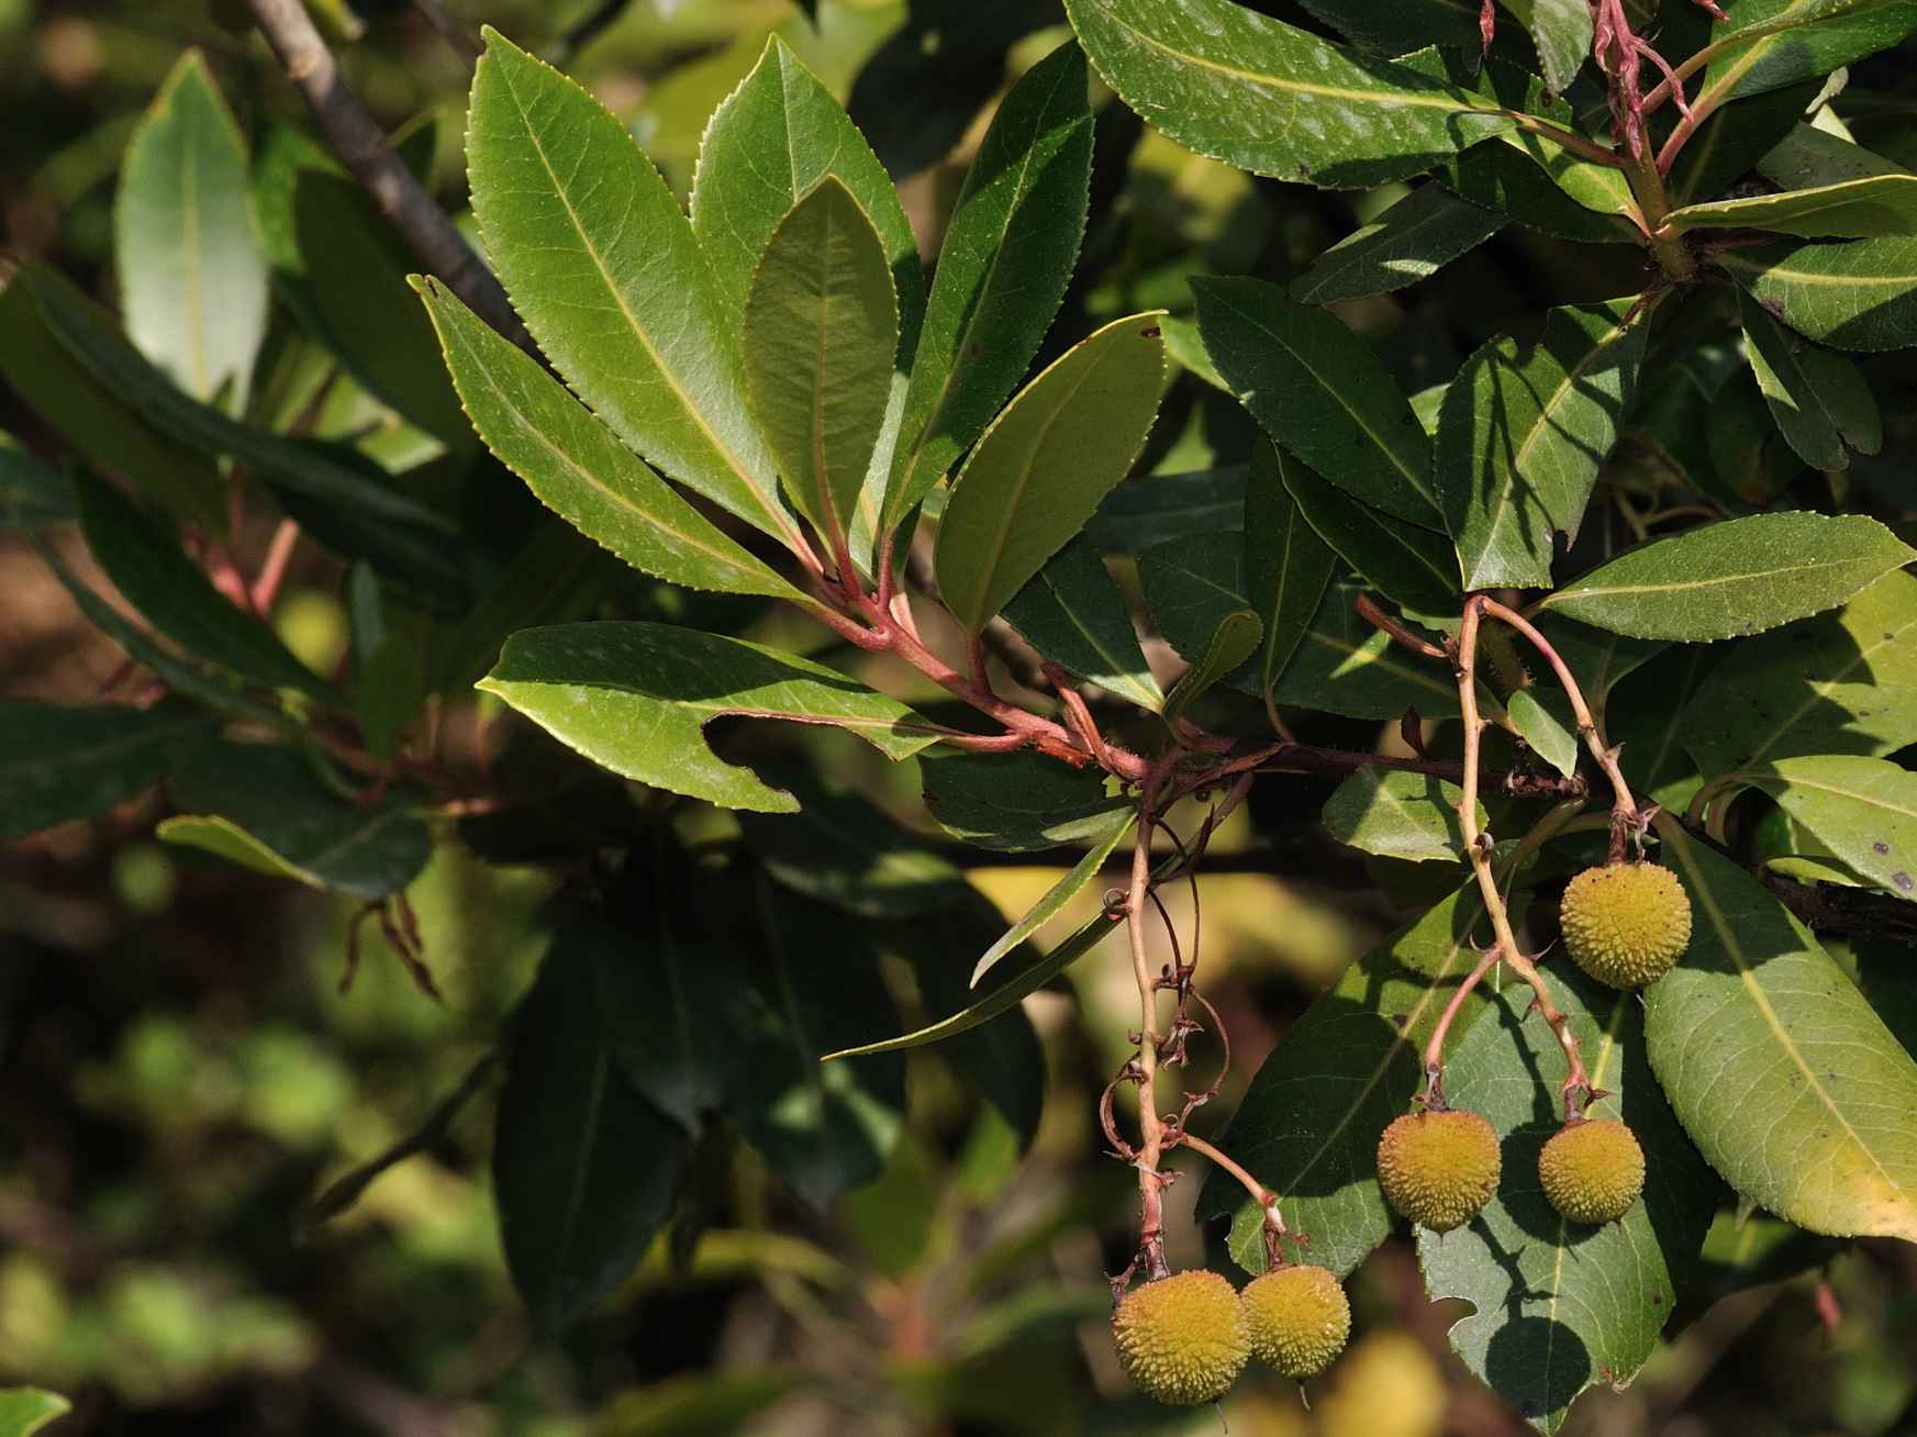
[[(1162, 1403), (1334, 1372), (1388, 1242), (1539, 1431), (1739, 1215), (1917, 1242), (1917, 8), (1263, 10), (1066, 0), (932, 220), (780, 38), (661, 172), (489, 29), (485, 264), (370, 276), (391, 345), (324, 303), (309, 230), (399, 243), (337, 167), (155, 111), (418, 445), (266, 402), (245, 305), (186, 351), (125, 253), (119, 318), (19, 268), (29, 519), (151, 684), (0, 707), (0, 822), (163, 784), (161, 839), (347, 895), (426, 991), (437, 845), (564, 879), (493, 1157), (550, 1330), (702, 1220), (719, 1130), (813, 1211), (872, 1182), (909, 1052), (1029, 1144), (1072, 966), (1135, 989), (1074, 1102), (1133, 1188), (1106, 1358)], [(1150, 153), (1236, 195), (1166, 264)], [(234, 492), (335, 561), (326, 673)], [(449, 759), (458, 715), (531, 759)], [(1256, 1071), (1198, 922), (1244, 832), (1394, 920)], [(1054, 881), (1008, 922), (966, 853)]]

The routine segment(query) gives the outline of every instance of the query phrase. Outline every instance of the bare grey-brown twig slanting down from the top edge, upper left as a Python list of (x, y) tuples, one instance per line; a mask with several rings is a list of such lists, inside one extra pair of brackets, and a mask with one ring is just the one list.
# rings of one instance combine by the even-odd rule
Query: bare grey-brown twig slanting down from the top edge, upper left
[(339, 75), (303, 0), (247, 0), (286, 77), (312, 107), (326, 142), (372, 195), (427, 270), (437, 274), (481, 320), (531, 354), (539, 354), (498, 280), (452, 220), (387, 144), (385, 130)]

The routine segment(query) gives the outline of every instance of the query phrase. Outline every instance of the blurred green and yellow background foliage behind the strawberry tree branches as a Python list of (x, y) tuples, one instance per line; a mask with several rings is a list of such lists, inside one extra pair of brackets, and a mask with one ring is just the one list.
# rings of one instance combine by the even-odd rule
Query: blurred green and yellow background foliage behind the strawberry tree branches
[[(464, 46), (481, 21), (589, 84), (681, 194), (705, 117), (778, 33), (845, 98), (899, 180), (926, 253), (993, 102), (1064, 38), (1047, 0), (312, 8), (353, 84), (412, 136), (408, 155), (452, 211), (462, 209)], [(1309, 23), (1296, 6), (1267, 8)], [(184, 48), (205, 54), (253, 128), (255, 155), (268, 121), (305, 123), (242, 4), (0, 0), (10, 261), (54, 261), (111, 295), (115, 176)], [(1256, 180), (1143, 132), (1110, 103), (1098, 113), (1093, 186), (1085, 262), (1047, 356), (1120, 312), (1189, 314), (1190, 274), (1296, 274), (1401, 194)], [(1436, 282), (1340, 312), (1382, 341), (1396, 377), (1417, 391), (1449, 377), (1486, 335), (1522, 326), (1539, 307), (1536, 276), (1549, 274), (1551, 301), (1566, 303), (1635, 287), (1639, 264), (1624, 247), (1513, 228)], [(286, 402), (311, 397), (297, 372), (268, 383)], [(1238, 462), (1246, 425), (1235, 402), (1187, 379), (1167, 400), (1152, 468)], [(0, 397), (0, 427), (38, 435), (12, 397)], [(314, 431), (387, 462), (429, 460), (437, 443), (351, 381), (324, 393)], [(518, 498), (500, 500), (500, 525), (521, 512)], [(1204, 529), (1206, 504), (1231, 498), (1227, 473), (1210, 489), (1183, 483), (1158, 508), (1146, 500), (1154, 531), (1139, 542)], [(100, 582), (77, 540), (56, 542)], [(663, 617), (686, 617), (686, 604), (740, 604), (606, 582), (635, 584), (627, 602)], [(335, 563), (305, 554), (276, 611), (288, 644), (322, 673), (345, 648), (341, 588)], [(0, 533), (0, 690), (88, 701), (117, 682), (117, 651), (15, 533)], [(750, 607), (725, 627), (751, 623), (771, 634)], [(819, 644), (817, 634), (778, 638)], [(884, 680), (935, 707), (909, 678)], [(472, 745), (462, 728), (472, 722), (449, 707), (443, 741)], [(1321, 722), (1307, 738), (1392, 741), (1369, 724)], [(767, 757), (803, 755), (901, 818), (916, 810), (912, 764), (888, 766), (843, 736), (788, 730), (750, 741)], [(537, 753), (508, 743), (498, 761), (537, 763)], [(1376, 891), (1376, 874), (1317, 830), (1330, 784), (1267, 789), (1213, 843), (1202, 879), (1210, 991), (1235, 1046), (1219, 1113), (1309, 998), (1399, 918), (1359, 897)], [(694, 1157), (692, 1198), (636, 1276), (564, 1339), (548, 1339), (508, 1284), (487, 1178), (491, 1054), (531, 983), (566, 878), (525, 862), (541, 856), (539, 833), (468, 826), (466, 841), (441, 845), (414, 883), (445, 994), (433, 1004), (370, 929), (357, 981), (341, 992), (351, 902), (161, 847), (148, 837), (155, 816), (144, 801), (0, 851), (0, 1383), (67, 1393), (75, 1410), (52, 1431), (1223, 1429), (1217, 1412), (1167, 1414), (1131, 1399), (1104, 1335), (1102, 1274), (1123, 1261), (1135, 1201), (1093, 1119), (1125, 1052), (1133, 991), (1120, 966), (1081, 964), (1029, 1000), (1049, 1094), (1024, 1155), (945, 1054), (912, 1054), (905, 1130), (874, 1182), (817, 1213), (734, 1134), (709, 1136)], [(740, 841), (715, 810), (681, 828), (696, 843)], [(1233, 872), (1269, 868), (1271, 855), (1284, 878)], [(1016, 916), (1054, 874), (1003, 864), (970, 879)], [(1397, 883), (1407, 902), (1409, 887)], [(1190, 918), (1189, 895), (1173, 901), (1173, 918)], [(907, 969), (888, 977), (911, 1002)], [(449, 1094), (468, 1100), (450, 1106)], [(412, 1157), (316, 1203), (422, 1125)], [(1173, 1188), (1175, 1213), (1189, 1211), (1196, 1186)], [(1208, 1259), (1189, 1222), (1171, 1230), (1175, 1265)], [(1566, 1431), (1917, 1431), (1909, 1247), (1861, 1243), (1838, 1257), (1835, 1243), (1783, 1222), (1725, 1211), (1708, 1255), (1716, 1301), (1679, 1312), (1639, 1381), (1589, 1397)], [(1210, 1259), (1223, 1263), (1215, 1247)], [(1444, 1332), (1461, 1314), (1447, 1309), (1461, 1305), (1422, 1299), (1409, 1245), (1392, 1242), (1365, 1265), (1353, 1303), (1359, 1335), (1311, 1385), (1309, 1404), (1286, 1383), (1240, 1383), (1223, 1408), (1233, 1433), (1524, 1431), (1447, 1355)]]

